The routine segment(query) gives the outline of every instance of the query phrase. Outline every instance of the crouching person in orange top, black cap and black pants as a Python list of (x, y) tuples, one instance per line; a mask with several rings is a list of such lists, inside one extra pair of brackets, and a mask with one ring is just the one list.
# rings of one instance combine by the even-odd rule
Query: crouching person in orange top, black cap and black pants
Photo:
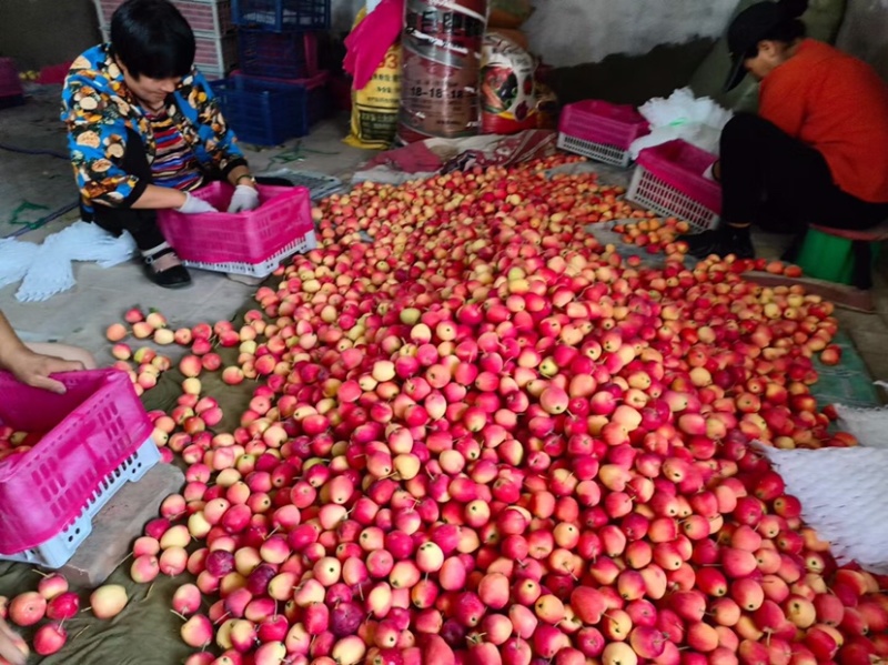
[(888, 85), (865, 62), (805, 38), (807, 0), (760, 2), (728, 28), (726, 89), (760, 81), (757, 115), (722, 133), (722, 224), (683, 236), (692, 255), (754, 255), (749, 226), (868, 229), (888, 219)]

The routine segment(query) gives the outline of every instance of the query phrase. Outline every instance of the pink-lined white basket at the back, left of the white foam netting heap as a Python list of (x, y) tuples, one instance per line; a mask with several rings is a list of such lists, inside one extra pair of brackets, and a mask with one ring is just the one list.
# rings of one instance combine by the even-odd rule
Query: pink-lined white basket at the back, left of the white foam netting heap
[(558, 148), (625, 168), (629, 145), (648, 131), (647, 121), (634, 107), (588, 99), (562, 111)]

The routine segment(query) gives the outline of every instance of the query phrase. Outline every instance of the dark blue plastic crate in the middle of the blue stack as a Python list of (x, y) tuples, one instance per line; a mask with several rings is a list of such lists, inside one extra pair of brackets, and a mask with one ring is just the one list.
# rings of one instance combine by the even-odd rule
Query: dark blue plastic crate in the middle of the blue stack
[(250, 77), (305, 79), (317, 73), (317, 38), (311, 32), (238, 31), (240, 69)]

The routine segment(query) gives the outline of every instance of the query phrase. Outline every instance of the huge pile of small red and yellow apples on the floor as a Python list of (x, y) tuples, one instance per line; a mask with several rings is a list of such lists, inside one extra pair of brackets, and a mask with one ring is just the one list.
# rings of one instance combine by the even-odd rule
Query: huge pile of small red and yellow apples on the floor
[[(831, 305), (730, 259), (624, 262), (583, 230), (620, 191), (546, 179), (572, 160), (332, 197), (242, 326), (172, 333), (188, 379), (152, 417), (188, 485), (131, 572), (193, 576), (190, 665), (888, 657), (886, 580), (749, 446), (855, 444), (810, 394)], [(255, 382), (233, 432), (214, 370)]]

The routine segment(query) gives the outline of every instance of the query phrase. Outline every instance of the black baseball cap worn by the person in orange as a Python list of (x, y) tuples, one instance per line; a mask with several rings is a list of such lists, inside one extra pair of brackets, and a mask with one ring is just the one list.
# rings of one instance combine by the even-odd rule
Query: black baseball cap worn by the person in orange
[(730, 51), (730, 73), (725, 81), (725, 92), (736, 88), (746, 75), (744, 61), (757, 48), (758, 42), (788, 20), (800, 17), (807, 2), (780, 0), (779, 2), (758, 2), (746, 8), (728, 27), (728, 51)]

